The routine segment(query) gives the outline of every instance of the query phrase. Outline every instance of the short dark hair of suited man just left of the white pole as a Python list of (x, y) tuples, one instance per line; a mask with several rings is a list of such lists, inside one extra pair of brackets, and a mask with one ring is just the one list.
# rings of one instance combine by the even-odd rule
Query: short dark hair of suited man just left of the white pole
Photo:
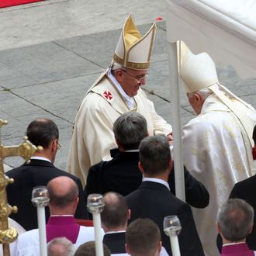
[(140, 162), (148, 175), (163, 173), (171, 161), (168, 138), (164, 135), (145, 137), (139, 147)]

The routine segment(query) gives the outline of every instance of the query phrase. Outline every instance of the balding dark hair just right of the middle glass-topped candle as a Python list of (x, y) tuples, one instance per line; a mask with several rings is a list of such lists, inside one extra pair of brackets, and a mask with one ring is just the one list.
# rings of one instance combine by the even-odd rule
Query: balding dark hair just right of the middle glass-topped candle
[(127, 221), (127, 204), (123, 195), (108, 192), (103, 195), (105, 202), (101, 213), (102, 223), (108, 228), (123, 227)]

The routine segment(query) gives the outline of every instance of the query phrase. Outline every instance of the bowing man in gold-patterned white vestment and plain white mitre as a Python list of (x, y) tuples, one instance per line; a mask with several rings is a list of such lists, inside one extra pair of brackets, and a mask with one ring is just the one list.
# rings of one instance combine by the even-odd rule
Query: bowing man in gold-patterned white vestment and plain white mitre
[(216, 248), (216, 214), (234, 184), (255, 171), (251, 134), (255, 109), (220, 85), (208, 54), (194, 55), (182, 43), (180, 76), (196, 117), (182, 128), (184, 164), (209, 191), (209, 206), (194, 209), (206, 255)]

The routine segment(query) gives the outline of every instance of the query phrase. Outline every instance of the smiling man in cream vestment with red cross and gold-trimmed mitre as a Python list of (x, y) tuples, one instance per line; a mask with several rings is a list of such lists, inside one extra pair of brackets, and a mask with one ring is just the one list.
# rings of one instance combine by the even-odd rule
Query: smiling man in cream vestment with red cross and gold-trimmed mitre
[(67, 170), (86, 182), (88, 168), (111, 159), (117, 147), (112, 132), (124, 112), (140, 112), (147, 119), (150, 135), (164, 133), (171, 140), (171, 125), (154, 110), (153, 102), (140, 88), (145, 85), (153, 48), (155, 23), (141, 36), (129, 16), (123, 26), (112, 64), (88, 89), (74, 120)]

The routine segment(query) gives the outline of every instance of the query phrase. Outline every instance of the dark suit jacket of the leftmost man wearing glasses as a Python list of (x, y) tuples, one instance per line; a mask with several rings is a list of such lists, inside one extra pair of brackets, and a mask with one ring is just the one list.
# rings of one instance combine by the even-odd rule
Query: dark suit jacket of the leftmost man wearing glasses
[[(14, 178), (14, 182), (6, 188), (8, 202), (11, 206), (18, 206), (18, 213), (12, 213), (10, 217), (16, 220), (26, 230), (37, 228), (36, 207), (32, 205), (31, 195), (33, 187), (47, 185), (47, 183), (58, 176), (67, 176), (77, 183), (79, 188), (79, 202), (75, 213), (75, 218), (88, 218), (85, 204), (85, 197), (79, 178), (61, 171), (48, 161), (32, 159), (29, 164), (22, 164), (18, 168), (7, 171), (9, 178)], [(46, 207), (46, 218), (50, 216)]]

